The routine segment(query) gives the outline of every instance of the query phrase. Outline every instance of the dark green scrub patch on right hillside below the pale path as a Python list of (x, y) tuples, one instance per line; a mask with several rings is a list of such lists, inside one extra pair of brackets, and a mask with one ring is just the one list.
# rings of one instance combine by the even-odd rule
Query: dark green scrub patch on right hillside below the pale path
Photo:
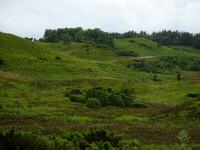
[(198, 57), (162, 56), (154, 59), (137, 59), (128, 63), (127, 67), (140, 71), (163, 73), (177, 71), (200, 71), (200, 59)]

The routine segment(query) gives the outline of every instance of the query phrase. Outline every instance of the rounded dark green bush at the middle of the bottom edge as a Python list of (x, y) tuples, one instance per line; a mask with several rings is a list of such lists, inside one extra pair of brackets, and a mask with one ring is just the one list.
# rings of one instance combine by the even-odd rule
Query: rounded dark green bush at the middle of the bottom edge
[(123, 136), (99, 128), (90, 128), (83, 133), (67, 132), (63, 138), (74, 143), (77, 149), (109, 149), (113, 147), (122, 149), (126, 144)]

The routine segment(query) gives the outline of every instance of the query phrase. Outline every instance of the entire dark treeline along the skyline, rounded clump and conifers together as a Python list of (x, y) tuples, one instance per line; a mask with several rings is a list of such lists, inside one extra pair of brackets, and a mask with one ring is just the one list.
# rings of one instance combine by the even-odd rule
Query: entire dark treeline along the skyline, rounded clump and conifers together
[(64, 29), (47, 29), (44, 37), (40, 39), (43, 42), (63, 42), (68, 44), (70, 42), (92, 43), (101, 46), (114, 47), (114, 38), (148, 38), (160, 45), (185, 45), (200, 48), (200, 34), (192, 34), (189, 32), (167, 31), (153, 32), (148, 34), (145, 31), (137, 33), (135, 31), (128, 31), (125, 33), (108, 33), (98, 28), (84, 30), (78, 28), (64, 28)]

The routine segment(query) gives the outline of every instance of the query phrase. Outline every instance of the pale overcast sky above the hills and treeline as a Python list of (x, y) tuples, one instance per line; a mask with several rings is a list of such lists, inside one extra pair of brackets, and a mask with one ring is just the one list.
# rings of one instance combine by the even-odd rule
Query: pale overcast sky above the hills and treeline
[(0, 0), (0, 31), (40, 38), (46, 29), (200, 32), (200, 0)]

